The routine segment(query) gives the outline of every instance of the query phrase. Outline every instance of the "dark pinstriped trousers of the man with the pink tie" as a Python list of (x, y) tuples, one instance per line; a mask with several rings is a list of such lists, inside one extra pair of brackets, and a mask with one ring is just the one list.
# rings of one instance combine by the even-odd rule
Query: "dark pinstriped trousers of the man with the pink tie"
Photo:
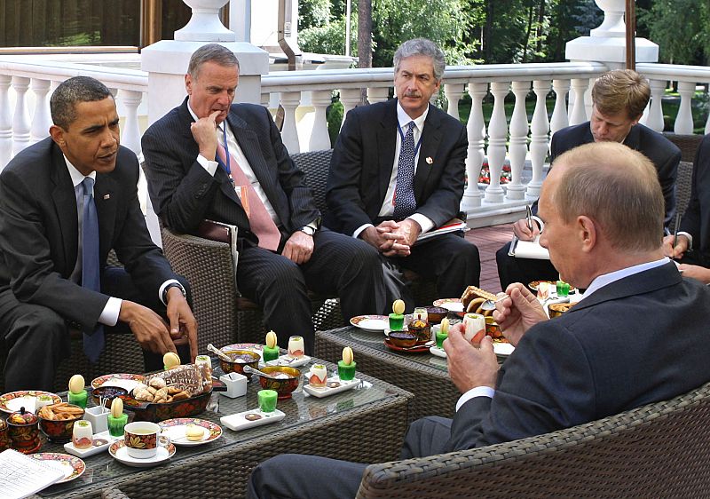
[(285, 348), (288, 337), (302, 336), (309, 354), (314, 352), (314, 331), (308, 289), (340, 297), (348, 320), (382, 313), (385, 307), (383, 269), (375, 248), (326, 228), (313, 235), (313, 242), (312, 256), (302, 265), (245, 242), (237, 265), (241, 293), (261, 306), (279, 345)]

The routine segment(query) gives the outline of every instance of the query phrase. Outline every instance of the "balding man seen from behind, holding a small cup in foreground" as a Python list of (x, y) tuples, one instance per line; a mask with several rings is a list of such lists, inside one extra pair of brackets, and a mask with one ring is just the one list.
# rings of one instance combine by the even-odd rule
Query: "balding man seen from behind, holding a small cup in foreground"
[[(554, 432), (710, 381), (710, 289), (683, 279), (663, 256), (663, 213), (656, 170), (643, 154), (606, 142), (560, 155), (542, 185), (540, 244), (564, 281), (587, 289), (584, 297), (548, 320), (530, 291), (510, 286), (493, 313), (516, 346), (500, 368), (490, 337), (471, 345), (455, 326), (444, 342), (462, 393), (454, 419), (415, 421), (401, 457)], [(353, 497), (365, 468), (280, 455), (252, 472), (248, 497)]]

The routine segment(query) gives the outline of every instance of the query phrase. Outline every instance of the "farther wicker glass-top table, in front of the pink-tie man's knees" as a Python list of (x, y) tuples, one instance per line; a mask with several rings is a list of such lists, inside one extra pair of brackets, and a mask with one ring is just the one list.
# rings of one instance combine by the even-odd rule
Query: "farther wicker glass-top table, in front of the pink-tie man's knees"
[[(344, 346), (355, 353), (358, 371), (414, 393), (411, 416), (453, 417), (461, 393), (449, 378), (446, 358), (430, 352), (394, 352), (384, 345), (382, 331), (354, 326), (316, 331), (316, 356), (335, 359)], [(504, 357), (499, 356), (499, 362)]]

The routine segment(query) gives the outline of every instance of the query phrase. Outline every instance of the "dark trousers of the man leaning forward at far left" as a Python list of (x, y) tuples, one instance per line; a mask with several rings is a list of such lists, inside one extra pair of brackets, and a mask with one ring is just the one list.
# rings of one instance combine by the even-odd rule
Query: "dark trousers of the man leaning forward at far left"
[[(178, 276), (185, 290), (189, 285)], [(129, 299), (153, 309), (165, 316), (165, 305), (158, 297), (158, 290), (141, 294), (120, 267), (106, 267), (101, 276), (102, 291), (112, 297)], [(77, 307), (81, 304), (76, 304)], [(50, 308), (43, 305), (21, 303), (11, 290), (0, 293), (0, 332), (6, 345), (4, 378), (5, 390), (46, 390), (51, 392), (54, 375), (62, 359), (70, 355), (70, 338), (67, 322)], [(130, 334), (126, 324), (118, 322), (106, 327), (105, 334)], [(190, 361), (189, 348), (177, 349), (180, 359)], [(162, 354), (143, 351), (146, 371), (162, 369)]]

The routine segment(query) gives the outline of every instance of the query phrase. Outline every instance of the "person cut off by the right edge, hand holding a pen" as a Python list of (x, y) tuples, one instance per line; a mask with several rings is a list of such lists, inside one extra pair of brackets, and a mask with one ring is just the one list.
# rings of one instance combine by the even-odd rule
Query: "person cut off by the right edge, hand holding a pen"
[(663, 242), (666, 255), (680, 259), (683, 276), (710, 284), (710, 135), (695, 154), (690, 202), (675, 247), (673, 235)]

